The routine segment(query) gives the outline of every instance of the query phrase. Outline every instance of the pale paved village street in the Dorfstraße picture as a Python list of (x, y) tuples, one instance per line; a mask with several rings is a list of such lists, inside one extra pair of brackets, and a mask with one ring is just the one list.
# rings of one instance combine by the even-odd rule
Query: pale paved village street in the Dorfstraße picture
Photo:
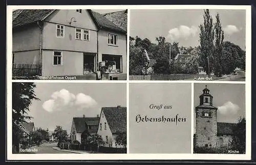
[(33, 147), (33, 149), (37, 149), (36, 154), (71, 154), (70, 152), (54, 150), (52, 148), (54, 146), (57, 146), (57, 143), (45, 143), (41, 144), (39, 147)]

